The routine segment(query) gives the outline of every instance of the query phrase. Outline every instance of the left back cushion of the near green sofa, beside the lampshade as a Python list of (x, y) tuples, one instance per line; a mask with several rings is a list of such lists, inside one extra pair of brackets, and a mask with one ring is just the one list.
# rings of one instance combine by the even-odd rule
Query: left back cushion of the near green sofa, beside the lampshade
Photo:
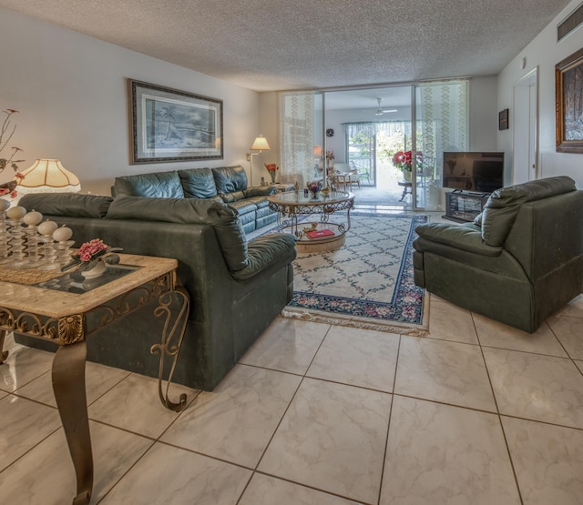
[(31, 193), (20, 198), (18, 205), (46, 216), (104, 217), (112, 197), (77, 193)]

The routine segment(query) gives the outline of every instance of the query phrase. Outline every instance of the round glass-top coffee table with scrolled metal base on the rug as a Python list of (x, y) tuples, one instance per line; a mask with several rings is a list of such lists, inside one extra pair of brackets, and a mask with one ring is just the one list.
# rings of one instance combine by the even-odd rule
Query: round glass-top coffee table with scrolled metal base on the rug
[[(321, 252), (343, 247), (350, 229), (353, 193), (330, 191), (324, 195), (321, 191), (314, 198), (302, 191), (286, 191), (267, 199), (271, 210), (278, 213), (281, 231), (296, 237), (298, 252)], [(311, 215), (317, 216), (317, 220), (306, 218)], [(332, 215), (340, 215), (340, 218), (331, 220)]]

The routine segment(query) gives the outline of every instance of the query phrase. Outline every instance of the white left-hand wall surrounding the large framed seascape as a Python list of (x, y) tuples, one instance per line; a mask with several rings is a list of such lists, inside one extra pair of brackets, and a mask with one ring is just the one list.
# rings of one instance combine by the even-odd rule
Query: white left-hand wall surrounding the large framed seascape
[[(0, 9), (0, 109), (15, 108), (19, 146), (30, 167), (57, 158), (83, 192), (109, 194), (121, 175), (242, 165), (259, 133), (259, 94), (118, 45)], [(130, 165), (126, 79), (223, 100), (224, 159)], [(0, 153), (6, 157), (6, 151)], [(0, 183), (14, 177), (6, 168)]]

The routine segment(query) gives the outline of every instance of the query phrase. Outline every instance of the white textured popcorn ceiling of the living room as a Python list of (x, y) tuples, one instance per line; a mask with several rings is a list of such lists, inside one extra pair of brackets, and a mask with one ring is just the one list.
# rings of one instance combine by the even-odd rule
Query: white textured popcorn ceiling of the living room
[(0, 0), (257, 91), (496, 75), (569, 0)]

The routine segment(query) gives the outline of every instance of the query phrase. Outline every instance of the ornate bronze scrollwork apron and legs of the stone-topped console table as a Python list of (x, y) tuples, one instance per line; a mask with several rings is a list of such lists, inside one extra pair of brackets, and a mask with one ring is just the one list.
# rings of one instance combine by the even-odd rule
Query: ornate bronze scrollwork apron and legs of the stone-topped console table
[[(159, 305), (154, 310), (154, 315), (165, 320), (161, 342), (152, 346), (150, 352), (160, 355), (159, 398), (168, 409), (178, 412), (186, 407), (185, 394), (180, 395), (178, 403), (169, 399), (169, 385), (179, 358), (189, 314), (189, 295), (183, 288), (175, 287), (174, 276), (174, 272), (169, 272), (146, 285), (128, 291), (124, 296), (117, 298), (113, 305), (102, 304), (85, 314), (74, 314), (64, 318), (46, 318), (30, 312), (0, 307), (2, 358), (0, 364), (8, 356), (8, 352), (3, 350), (6, 331), (17, 331), (36, 338), (58, 339), (60, 344), (53, 359), (53, 391), (77, 476), (77, 496), (73, 500), (74, 505), (87, 504), (93, 488), (93, 454), (85, 383), (86, 338), (92, 331), (107, 326), (114, 319), (122, 318), (146, 305), (155, 299), (154, 297), (158, 297)], [(101, 316), (100, 327), (87, 328), (89, 313)], [(171, 359), (171, 366), (166, 391), (163, 393), (163, 372), (167, 357)]]

